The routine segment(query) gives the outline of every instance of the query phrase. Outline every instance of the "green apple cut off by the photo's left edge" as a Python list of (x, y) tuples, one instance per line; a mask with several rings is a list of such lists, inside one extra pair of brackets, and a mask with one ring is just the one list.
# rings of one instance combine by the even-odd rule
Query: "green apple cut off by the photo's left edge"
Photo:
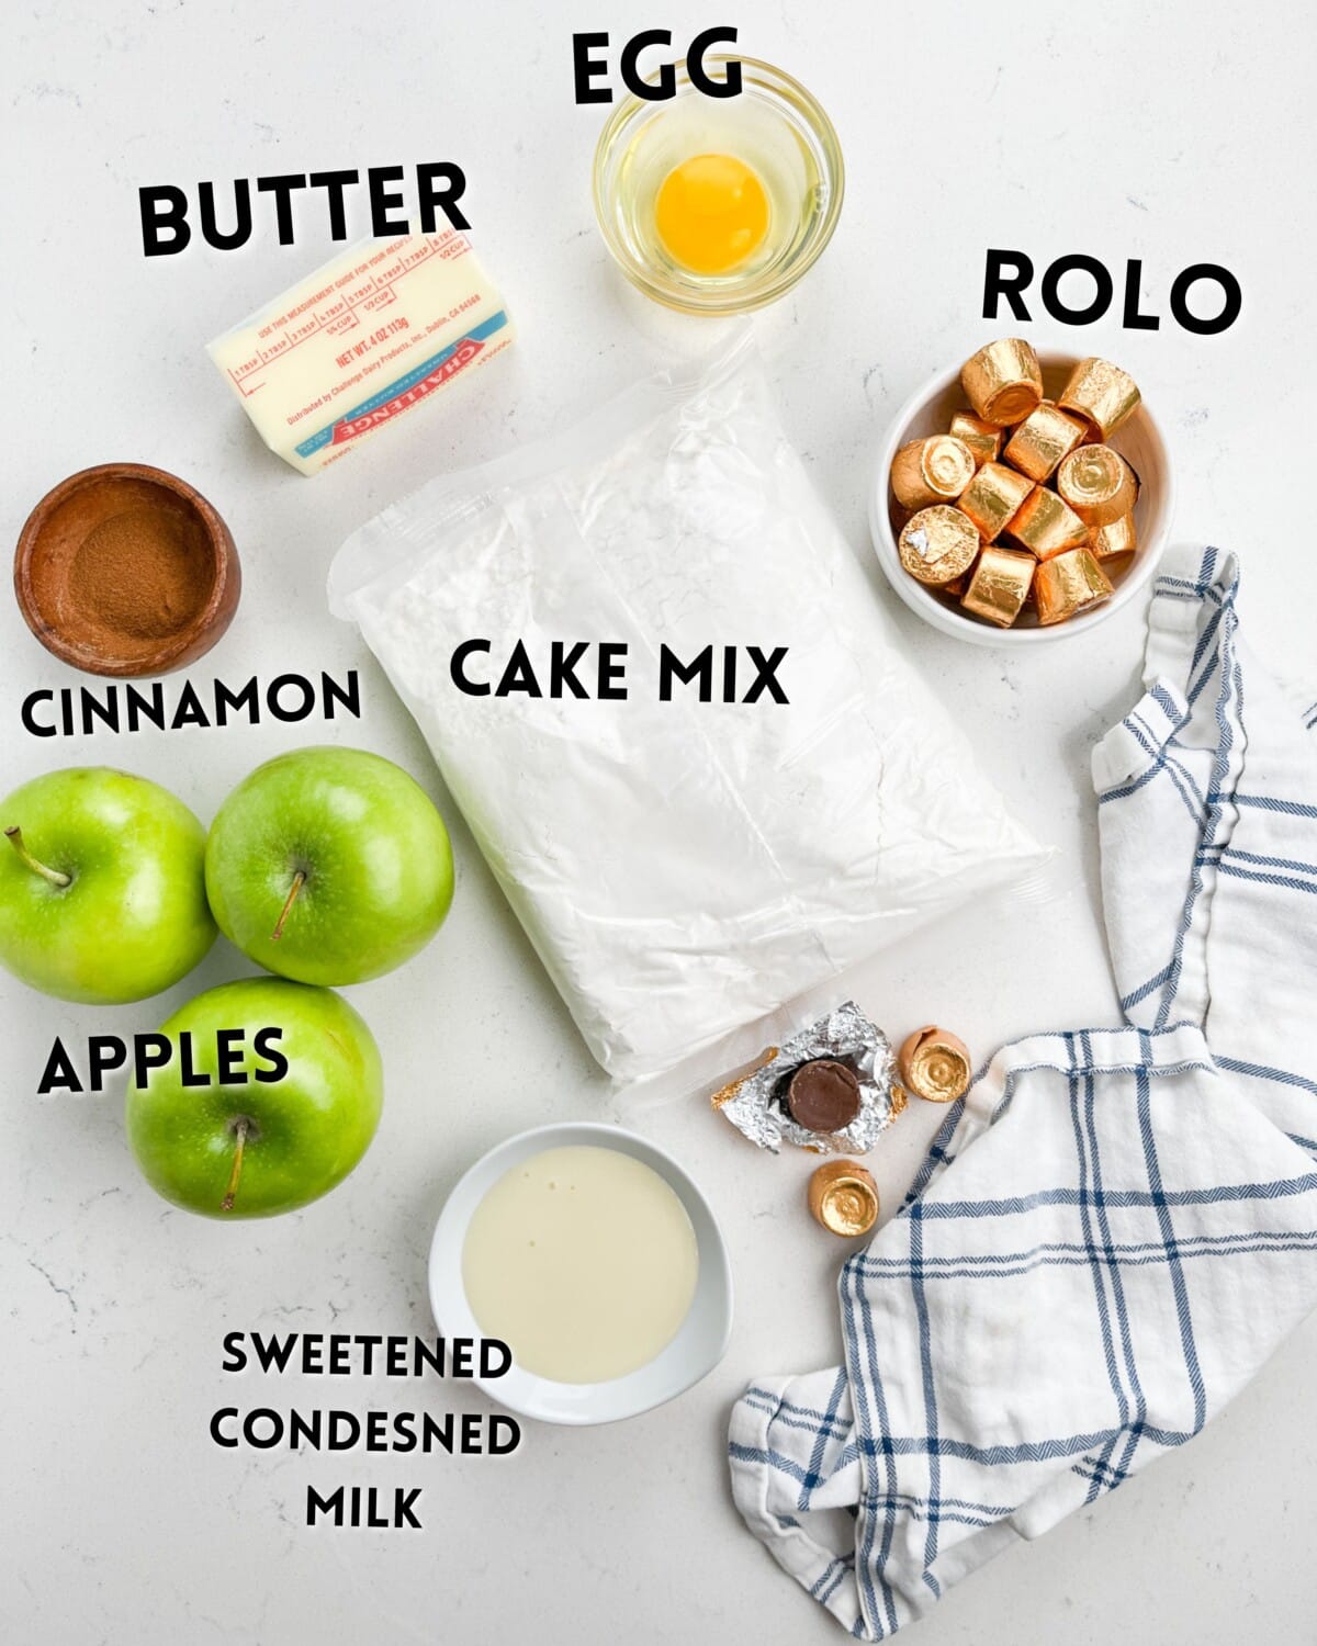
[(206, 831), (181, 800), (105, 765), (0, 802), (0, 963), (61, 1001), (145, 1001), (216, 940)]

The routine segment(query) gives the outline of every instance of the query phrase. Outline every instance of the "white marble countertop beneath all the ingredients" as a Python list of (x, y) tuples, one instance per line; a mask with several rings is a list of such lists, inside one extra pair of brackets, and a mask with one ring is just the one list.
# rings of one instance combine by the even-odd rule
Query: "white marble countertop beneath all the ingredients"
[[(155, 1027), (198, 988), (242, 974), (234, 950), (221, 942), (199, 974), (138, 1009), (69, 1007), (0, 976), (0, 1615), (12, 1639), (836, 1638), (742, 1529), (723, 1460), (729, 1402), (749, 1376), (836, 1358), (838, 1251), (798, 1203), (812, 1162), (759, 1157), (698, 1103), (609, 1098), (415, 728), (323, 596), (333, 550), (385, 502), (576, 416), (710, 336), (645, 306), (607, 260), (589, 202), (601, 110), (573, 104), (570, 49), (573, 30), (606, 20), (614, 38), (672, 26), (685, 40), (724, 18), (747, 53), (821, 99), (848, 160), (831, 249), (757, 321), (789, 428), (874, 599), (896, 609), (984, 765), (1065, 866), (1050, 902), (966, 914), (876, 960), (856, 981), (861, 1002), (894, 1034), (942, 1019), (981, 1050), (1115, 1012), (1087, 770), (1134, 691), (1141, 611), (1042, 655), (980, 650), (899, 607), (868, 550), (864, 495), (887, 418), (933, 370), (1008, 329), (980, 314), (986, 247), (1026, 249), (1039, 267), (1067, 252), (1118, 272), (1142, 258), (1159, 331), (1035, 318), (1027, 334), (1129, 365), (1174, 444), (1175, 537), (1236, 548), (1254, 642), (1296, 673), (1312, 660), (1317, 239), (1304, 165), (1317, 128), (1304, 7), (13, 8), (0, 64), (0, 537), (13, 542), (31, 504), (86, 464), (137, 459), (191, 479), (227, 517), (245, 574), (239, 617), (194, 678), (361, 668), (365, 714), (342, 736), (431, 788), (461, 881), (435, 945), (351, 991), (389, 1072), (370, 1154), (341, 1190), (268, 1223), (221, 1226), (156, 1200), (123, 1142), (122, 1083), (104, 1098), (36, 1098), (56, 1034)], [(204, 342), (316, 267), (331, 250), (323, 227), (290, 249), (267, 230), (242, 252), (194, 244), (148, 262), (137, 188), (446, 158), (468, 171), (476, 240), (515, 306), (519, 347), (497, 380), (305, 481), (258, 446)], [(1243, 285), (1243, 316), (1218, 337), (1169, 319), (1172, 278), (1198, 262)], [(0, 602), (5, 788), (53, 765), (117, 762), (209, 818), (252, 765), (316, 737), (286, 726), (26, 736), (23, 696), (63, 685), (77, 678)], [(721, 1208), (738, 1320), (703, 1384), (612, 1429), (530, 1427), (502, 1460), (212, 1445), (209, 1416), (235, 1391), (250, 1404), (328, 1399), (323, 1381), (226, 1378), (224, 1332), (433, 1330), (425, 1253), (446, 1190), (507, 1132), (576, 1116), (644, 1131)], [(874, 1157), (889, 1207), (935, 1121), (912, 1111)], [(1194, 1445), (963, 1583), (919, 1625), (920, 1641), (1312, 1639), (1315, 1353), (1310, 1323)], [(461, 1386), (354, 1379), (337, 1394), (331, 1404), (356, 1409), (449, 1396), (484, 1409)], [(425, 1531), (308, 1531), (306, 1483), (334, 1480), (423, 1485)]]

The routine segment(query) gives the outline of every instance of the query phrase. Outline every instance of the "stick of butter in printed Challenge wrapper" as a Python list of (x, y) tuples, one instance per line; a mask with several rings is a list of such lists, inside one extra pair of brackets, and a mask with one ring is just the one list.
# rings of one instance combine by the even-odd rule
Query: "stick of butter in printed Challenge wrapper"
[(449, 229), (352, 247), (207, 352), (270, 451), (316, 474), (510, 342), (502, 298)]

